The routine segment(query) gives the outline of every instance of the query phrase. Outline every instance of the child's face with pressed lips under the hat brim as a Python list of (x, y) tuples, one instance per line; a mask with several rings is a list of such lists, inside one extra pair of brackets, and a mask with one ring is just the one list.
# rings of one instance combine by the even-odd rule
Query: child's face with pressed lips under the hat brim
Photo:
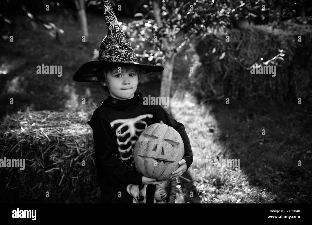
[[(138, 74), (124, 66), (114, 67), (107, 73), (110, 95), (120, 100), (131, 99), (138, 86)], [(104, 86), (107, 86), (103, 82)]]

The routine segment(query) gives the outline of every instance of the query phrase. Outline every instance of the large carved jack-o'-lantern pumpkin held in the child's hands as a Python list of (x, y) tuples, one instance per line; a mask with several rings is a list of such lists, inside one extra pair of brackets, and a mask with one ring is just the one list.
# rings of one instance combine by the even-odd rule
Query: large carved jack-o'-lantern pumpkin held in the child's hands
[(135, 143), (133, 157), (137, 170), (158, 181), (168, 180), (184, 155), (183, 140), (166, 124), (152, 124)]

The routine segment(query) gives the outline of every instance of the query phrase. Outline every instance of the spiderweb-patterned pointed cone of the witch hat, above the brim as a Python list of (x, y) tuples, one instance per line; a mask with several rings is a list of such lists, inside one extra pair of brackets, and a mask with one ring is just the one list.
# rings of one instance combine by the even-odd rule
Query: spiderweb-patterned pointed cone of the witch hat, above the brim
[(109, 62), (133, 61), (138, 63), (134, 50), (127, 41), (109, 1), (104, 1), (104, 16), (108, 34), (101, 43), (99, 60)]

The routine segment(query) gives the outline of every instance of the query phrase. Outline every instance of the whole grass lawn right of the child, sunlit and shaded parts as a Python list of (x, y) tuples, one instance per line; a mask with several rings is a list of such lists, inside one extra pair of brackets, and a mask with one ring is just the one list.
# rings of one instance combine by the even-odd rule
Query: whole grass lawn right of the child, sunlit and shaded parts
[[(185, 124), (194, 155), (179, 178), (177, 203), (312, 202), (311, 119), (290, 106), (198, 105), (189, 94), (176, 96), (173, 115)], [(220, 156), (240, 159), (240, 168), (215, 167)]]

